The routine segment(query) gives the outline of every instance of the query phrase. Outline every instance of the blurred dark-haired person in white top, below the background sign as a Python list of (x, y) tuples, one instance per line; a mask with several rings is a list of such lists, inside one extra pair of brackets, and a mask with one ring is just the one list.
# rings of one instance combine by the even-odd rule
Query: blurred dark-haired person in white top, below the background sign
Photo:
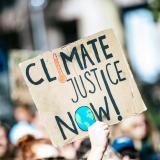
[(12, 144), (16, 145), (18, 140), (25, 135), (33, 135), (36, 138), (44, 137), (44, 134), (36, 126), (36, 112), (34, 106), (26, 103), (16, 103), (14, 117), (17, 123), (10, 130), (9, 138)]

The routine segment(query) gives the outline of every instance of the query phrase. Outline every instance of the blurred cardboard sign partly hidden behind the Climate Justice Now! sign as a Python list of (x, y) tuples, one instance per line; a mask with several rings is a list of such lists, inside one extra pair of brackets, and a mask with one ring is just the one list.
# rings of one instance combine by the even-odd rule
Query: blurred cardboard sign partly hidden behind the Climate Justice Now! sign
[(11, 50), (9, 56), (9, 72), (11, 97), (23, 103), (33, 103), (31, 95), (28, 92), (27, 85), (18, 68), (18, 64), (37, 55), (35, 51), (29, 50)]

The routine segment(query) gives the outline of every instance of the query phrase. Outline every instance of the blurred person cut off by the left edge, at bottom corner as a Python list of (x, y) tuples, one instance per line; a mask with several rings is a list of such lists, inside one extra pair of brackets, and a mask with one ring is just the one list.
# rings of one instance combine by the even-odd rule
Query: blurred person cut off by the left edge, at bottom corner
[(0, 159), (11, 160), (14, 157), (14, 148), (8, 140), (8, 127), (0, 122)]

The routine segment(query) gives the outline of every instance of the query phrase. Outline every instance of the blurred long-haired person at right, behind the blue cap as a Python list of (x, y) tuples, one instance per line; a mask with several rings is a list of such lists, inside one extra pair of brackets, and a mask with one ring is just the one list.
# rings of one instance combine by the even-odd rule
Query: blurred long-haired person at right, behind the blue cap
[(130, 117), (119, 124), (124, 136), (134, 139), (136, 147), (140, 150), (141, 160), (158, 160), (156, 153), (159, 145), (159, 136), (145, 114)]

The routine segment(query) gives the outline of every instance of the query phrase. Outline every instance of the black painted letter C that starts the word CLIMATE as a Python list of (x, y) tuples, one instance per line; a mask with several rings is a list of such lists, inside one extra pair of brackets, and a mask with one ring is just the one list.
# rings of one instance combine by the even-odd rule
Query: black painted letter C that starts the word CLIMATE
[(29, 64), (29, 65), (27, 66), (27, 68), (26, 68), (26, 77), (27, 77), (27, 79), (28, 79), (32, 84), (34, 84), (34, 85), (39, 85), (39, 84), (41, 84), (41, 83), (44, 81), (44, 79), (41, 78), (41, 79), (39, 79), (38, 81), (33, 81), (33, 79), (31, 78), (31, 76), (30, 76), (30, 74), (29, 74), (30, 68), (33, 67), (33, 66), (35, 66), (35, 63), (31, 63), (31, 64)]

